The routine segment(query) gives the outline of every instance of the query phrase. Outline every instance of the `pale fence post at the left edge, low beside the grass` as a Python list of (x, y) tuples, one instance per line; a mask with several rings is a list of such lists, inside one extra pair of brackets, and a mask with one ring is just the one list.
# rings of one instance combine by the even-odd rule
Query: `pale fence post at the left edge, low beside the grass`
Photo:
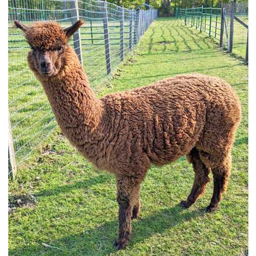
[(10, 116), (8, 113), (8, 177), (14, 178), (16, 174), (15, 152), (12, 139)]

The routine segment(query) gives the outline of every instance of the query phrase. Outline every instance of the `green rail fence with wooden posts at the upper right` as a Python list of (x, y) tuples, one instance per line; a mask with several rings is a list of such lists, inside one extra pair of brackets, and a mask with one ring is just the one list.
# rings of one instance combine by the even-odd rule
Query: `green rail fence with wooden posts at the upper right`
[(185, 25), (196, 27), (200, 32), (220, 41), (228, 49), (248, 61), (248, 3), (232, 1), (222, 8), (176, 9), (176, 18)]

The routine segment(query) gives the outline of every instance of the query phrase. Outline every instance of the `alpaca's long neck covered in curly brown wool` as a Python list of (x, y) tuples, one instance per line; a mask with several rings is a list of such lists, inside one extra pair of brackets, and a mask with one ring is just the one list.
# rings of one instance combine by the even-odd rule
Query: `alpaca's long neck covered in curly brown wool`
[(67, 59), (57, 76), (40, 80), (61, 131), (72, 144), (79, 146), (96, 139), (103, 106), (90, 88), (75, 52)]

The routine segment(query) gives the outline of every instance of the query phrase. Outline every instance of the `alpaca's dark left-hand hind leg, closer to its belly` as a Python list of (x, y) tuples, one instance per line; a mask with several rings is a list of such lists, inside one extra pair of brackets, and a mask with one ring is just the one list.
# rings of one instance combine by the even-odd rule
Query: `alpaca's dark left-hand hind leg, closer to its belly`
[(186, 201), (181, 201), (181, 206), (188, 208), (194, 204), (198, 198), (203, 195), (207, 183), (210, 181), (209, 173), (210, 168), (207, 168), (202, 162), (199, 156), (199, 152), (196, 147), (186, 156), (189, 163), (193, 164), (195, 172), (195, 180), (192, 190), (187, 197)]

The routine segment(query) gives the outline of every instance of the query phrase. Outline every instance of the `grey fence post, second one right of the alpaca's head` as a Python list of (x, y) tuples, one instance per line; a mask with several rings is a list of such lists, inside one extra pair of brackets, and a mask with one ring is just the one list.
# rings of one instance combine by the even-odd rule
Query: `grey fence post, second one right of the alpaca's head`
[(110, 37), (109, 37), (109, 25), (108, 25), (108, 12), (106, 10), (106, 0), (101, 2), (102, 6), (102, 19), (104, 29), (104, 41), (105, 41), (105, 57), (106, 57), (106, 74), (111, 74), (111, 59), (110, 59)]

